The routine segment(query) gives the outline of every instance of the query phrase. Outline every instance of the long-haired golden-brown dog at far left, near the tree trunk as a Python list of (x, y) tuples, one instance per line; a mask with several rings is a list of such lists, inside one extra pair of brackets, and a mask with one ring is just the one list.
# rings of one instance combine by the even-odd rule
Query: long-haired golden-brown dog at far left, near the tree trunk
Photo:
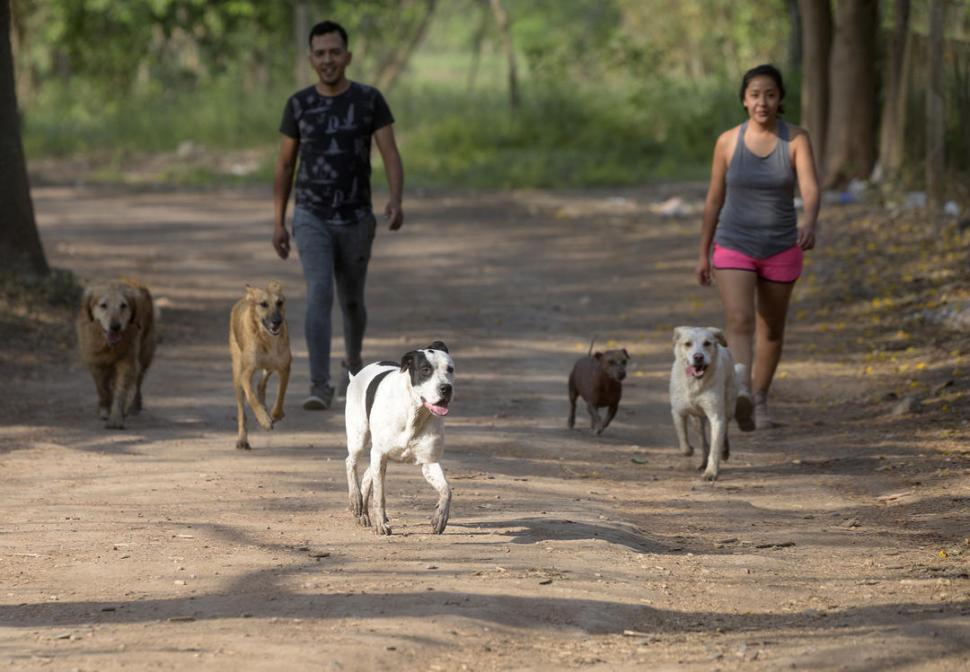
[(122, 278), (84, 292), (74, 322), (81, 359), (98, 390), (108, 429), (141, 410), (141, 384), (155, 355), (155, 306), (148, 288)]

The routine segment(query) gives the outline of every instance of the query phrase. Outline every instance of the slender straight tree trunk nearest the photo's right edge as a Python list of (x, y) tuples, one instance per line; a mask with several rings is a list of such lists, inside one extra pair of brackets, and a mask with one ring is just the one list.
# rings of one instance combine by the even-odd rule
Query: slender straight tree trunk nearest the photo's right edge
[(931, 212), (939, 212), (944, 183), (943, 2), (930, 2), (929, 63), (926, 81), (926, 195)]

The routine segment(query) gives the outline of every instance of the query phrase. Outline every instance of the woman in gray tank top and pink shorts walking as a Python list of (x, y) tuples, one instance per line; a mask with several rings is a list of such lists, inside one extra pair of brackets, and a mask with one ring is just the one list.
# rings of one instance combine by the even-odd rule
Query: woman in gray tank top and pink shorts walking
[[(741, 104), (748, 120), (722, 133), (714, 146), (694, 271), (702, 285), (711, 284), (712, 266), (717, 276), (728, 347), (745, 369), (735, 412), (743, 431), (774, 426), (768, 388), (781, 358), (802, 253), (815, 246), (819, 191), (812, 144), (804, 130), (779, 118), (784, 98), (774, 66), (744, 74)], [(796, 181), (804, 203), (801, 226)]]

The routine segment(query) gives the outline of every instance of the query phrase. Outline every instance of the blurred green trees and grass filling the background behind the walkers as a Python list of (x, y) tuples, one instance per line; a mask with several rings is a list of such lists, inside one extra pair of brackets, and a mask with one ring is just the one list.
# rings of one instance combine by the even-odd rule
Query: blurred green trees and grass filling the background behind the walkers
[[(386, 92), (409, 184), (583, 186), (703, 176), (717, 134), (741, 118), (740, 71), (777, 61), (786, 48), (782, 2), (504, 2), (521, 108), (507, 107), (506, 62), (488, 3), (438, 0), (422, 49)], [(293, 34), (295, 2), (17, 4), (25, 35), (18, 67), (31, 84), (21, 98), (31, 157), (96, 154), (99, 168), (87, 177), (112, 181), (127, 179), (130, 157), (172, 152), (186, 141), (214, 154), (258, 147), (266, 159), (248, 177), (188, 161), (157, 179), (268, 181), (305, 45)], [(373, 82), (430, 4), (306, 6), (310, 24), (334, 17), (348, 29), (350, 75)]]

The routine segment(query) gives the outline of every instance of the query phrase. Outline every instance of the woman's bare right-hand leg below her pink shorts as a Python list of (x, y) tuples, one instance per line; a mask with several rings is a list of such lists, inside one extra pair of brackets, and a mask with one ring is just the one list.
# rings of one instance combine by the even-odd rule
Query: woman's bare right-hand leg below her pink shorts
[(774, 425), (768, 417), (768, 388), (771, 387), (781, 359), (785, 340), (785, 318), (788, 316), (788, 304), (794, 287), (794, 283), (758, 281), (755, 362), (752, 372), (755, 424), (758, 429)]

